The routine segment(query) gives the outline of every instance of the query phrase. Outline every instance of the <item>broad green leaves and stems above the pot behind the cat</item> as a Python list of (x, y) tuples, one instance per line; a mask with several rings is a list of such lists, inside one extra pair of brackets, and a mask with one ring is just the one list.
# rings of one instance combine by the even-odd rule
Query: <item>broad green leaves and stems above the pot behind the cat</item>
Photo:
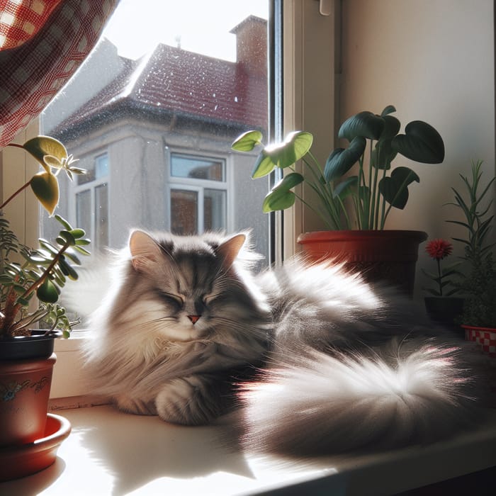
[[(263, 145), (262, 134), (252, 130), (237, 137), (232, 149), (251, 152), (262, 146), (254, 164), (253, 179), (264, 177), (274, 169), (290, 171), (264, 199), (264, 212), (289, 208), (298, 198), (330, 230), (382, 230), (391, 208), (405, 208), (408, 186), (420, 181), (409, 167), (393, 169), (393, 159), (401, 154), (424, 164), (439, 164), (444, 160), (444, 142), (432, 125), (414, 120), (406, 125), (404, 134), (399, 134), (400, 121), (391, 115), (395, 111), (390, 105), (381, 115), (363, 111), (346, 119), (338, 137), (349, 145), (334, 150), (324, 166), (312, 154), (313, 137), (305, 131), (290, 133), (280, 144)], [(295, 170), (295, 162), (300, 159), (301, 173)], [(302, 183), (315, 191), (315, 204), (295, 191), (295, 186)], [(346, 208), (348, 201), (351, 201), (351, 213)]]

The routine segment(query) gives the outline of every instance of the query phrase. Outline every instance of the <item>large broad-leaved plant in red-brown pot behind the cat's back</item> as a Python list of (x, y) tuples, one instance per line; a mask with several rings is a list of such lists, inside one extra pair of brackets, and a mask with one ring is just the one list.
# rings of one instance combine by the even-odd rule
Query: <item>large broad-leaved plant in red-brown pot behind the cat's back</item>
[[(381, 115), (363, 111), (346, 119), (338, 137), (349, 146), (334, 150), (324, 166), (312, 154), (313, 138), (305, 131), (290, 133), (278, 145), (262, 145), (252, 177), (266, 176), (274, 169), (290, 171), (271, 189), (262, 209), (267, 213), (283, 210), (298, 198), (322, 219), (328, 231), (298, 238), (311, 259), (343, 259), (369, 279), (386, 279), (411, 295), (418, 246), (427, 235), (385, 230), (385, 222), (392, 208), (405, 208), (408, 186), (420, 179), (408, 167), (393, 169), (392, 162), (401, 154), (415, 162), (440, 163), (444, 142), (432, 125), (421, 120), (408, 123), (405, 133), (399, 134), (400, 121), (391, 115), (395, 110), (387, 106)], [(232, 148), (249, 152), (261, 145), (261, 140), (259, 131), (248, 131)], [(301, 173), (295, 170), (300, 159)], [(295, 191), (295, 186), (303, 183), (315, 192), (315, 204)]]

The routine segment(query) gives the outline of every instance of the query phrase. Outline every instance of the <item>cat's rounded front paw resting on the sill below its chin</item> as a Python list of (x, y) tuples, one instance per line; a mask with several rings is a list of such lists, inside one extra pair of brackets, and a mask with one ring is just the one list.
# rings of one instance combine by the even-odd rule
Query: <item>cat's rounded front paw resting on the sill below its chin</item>
[(220, 412), (217, 395), (198, 376), (168, 381), (157, 395), (155, 405), (159, 417), (172, 424), (208, 424)]

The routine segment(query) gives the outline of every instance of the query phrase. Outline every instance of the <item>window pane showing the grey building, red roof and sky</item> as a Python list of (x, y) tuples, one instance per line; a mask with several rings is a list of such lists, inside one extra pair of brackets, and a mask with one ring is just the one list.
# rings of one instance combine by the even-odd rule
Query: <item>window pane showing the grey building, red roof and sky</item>
[[(268, 263), (268, 181), (251, 179), (258, 150), (231, 145), (254, 128), (267, 135), (269, 2), (120, 0), (41, 118), (88, 171), (72, 183), (60, 174), (57, 213), (88, 232), (93, 254), (120, 249), (136, 227), (250, 229)], [(57, 234), (42, 223), (44, 237)]]

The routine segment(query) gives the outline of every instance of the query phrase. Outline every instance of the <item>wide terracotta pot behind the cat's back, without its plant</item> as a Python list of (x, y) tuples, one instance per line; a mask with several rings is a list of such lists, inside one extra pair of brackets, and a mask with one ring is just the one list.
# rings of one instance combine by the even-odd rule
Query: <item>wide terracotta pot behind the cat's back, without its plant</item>
[(426, 239), (422, 231), (344, 230), (305, 232), (298, 243), (311, 261), (343, 261), (366, 281), (388, 283), (412, 297), (419, 244)]

